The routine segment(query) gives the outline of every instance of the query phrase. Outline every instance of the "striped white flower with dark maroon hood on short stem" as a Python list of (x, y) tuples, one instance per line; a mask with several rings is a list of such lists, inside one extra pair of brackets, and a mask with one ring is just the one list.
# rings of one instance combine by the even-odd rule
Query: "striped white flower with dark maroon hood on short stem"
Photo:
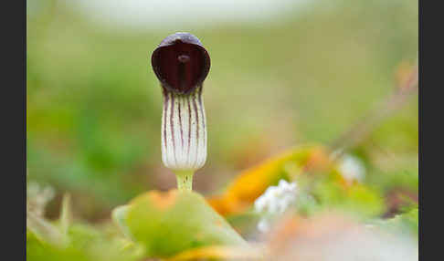
[(164, 94), (162, 161), (178, 188), (191, 190), (194, 172), (206, 162), (202, 88), (210, 57), (197, 37), (175, 33), (154, 49), (151, 62)]

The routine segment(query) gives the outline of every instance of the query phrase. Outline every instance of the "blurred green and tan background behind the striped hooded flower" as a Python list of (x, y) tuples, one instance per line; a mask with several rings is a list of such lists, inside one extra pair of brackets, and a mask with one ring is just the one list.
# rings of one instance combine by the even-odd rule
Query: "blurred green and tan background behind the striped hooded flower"
[[(285, 7), (248, 17), (255, 2), (239, 1), (232, 8), (241, 18), (188, 8), (139, 26), (139, 16), (125, 23), (131, 14), (118, 2), (72, 2), (27, 1), (27, 172), (58, 192), (49, 217), (65, 192), (82, 217), (100, 220), (137, 193), (175, 186), (161, 161), (163, 101), (150, 57), (176, 31), (199, 37), (212, 60), (208, 158), (195, 176), (206, 195), (284, 149), (328, 145), (393, 93), (399, 69), (418, 57), (413, 0), (277, 1)], [(141, 12), (155, 13), (154, 2)], [(418, 194), (418, 96), (352, 152), (365, 161), (368, 183)]]

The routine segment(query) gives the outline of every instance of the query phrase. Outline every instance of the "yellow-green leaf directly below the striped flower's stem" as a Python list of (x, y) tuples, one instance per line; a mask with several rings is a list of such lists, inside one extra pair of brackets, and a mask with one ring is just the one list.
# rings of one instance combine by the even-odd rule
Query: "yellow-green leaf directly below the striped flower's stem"
[(118, 211), (113, 214), (116, 222), (145, 247), (147, 256), (173, 256), (206, 245), (246, 244), (197, 193), (145, 193)]

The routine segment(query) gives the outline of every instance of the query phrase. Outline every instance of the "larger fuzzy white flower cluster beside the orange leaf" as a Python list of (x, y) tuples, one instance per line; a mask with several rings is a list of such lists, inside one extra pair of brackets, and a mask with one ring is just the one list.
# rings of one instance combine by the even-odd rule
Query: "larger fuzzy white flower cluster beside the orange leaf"
[(278, 186), (270, 186), (254, 203), (257, 213), (263, 214), (258, 224), (260, 232), (270, 230), (270, 223), (289, 209), (296, 201), (297, 185), (280, 180)]

